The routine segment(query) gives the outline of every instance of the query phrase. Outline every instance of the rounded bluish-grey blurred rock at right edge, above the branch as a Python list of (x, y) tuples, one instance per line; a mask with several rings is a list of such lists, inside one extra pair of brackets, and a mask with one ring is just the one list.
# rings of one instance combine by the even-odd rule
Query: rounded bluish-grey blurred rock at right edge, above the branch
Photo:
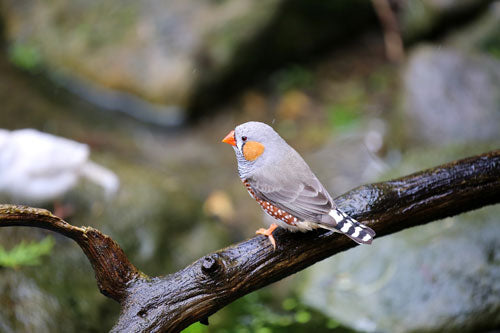
[(447, 144), (500, 138), (500, 61), (420, 47), (404, 72), (405, 135)]

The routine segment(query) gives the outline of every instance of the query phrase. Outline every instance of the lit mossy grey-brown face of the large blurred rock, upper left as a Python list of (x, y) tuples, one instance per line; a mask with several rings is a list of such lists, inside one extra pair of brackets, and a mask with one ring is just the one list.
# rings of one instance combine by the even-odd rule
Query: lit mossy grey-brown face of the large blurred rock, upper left
[[(281, 2), (5, 0), (0, 14), (12, 42), (11, 55), (21, 58), (19, 62), (38, 62), (101, 107), (125, 108), (132, 115), (151, 111), (146, 116), (150, 121), (156, 120), (155, 112), (173, 113), (176, 124), (179, 110), (158, 104), (187, 104), (205, 70), (200, 54), (217, 72)], [(92, 87), (96, 83), (111, 91), (97, 93)]]

